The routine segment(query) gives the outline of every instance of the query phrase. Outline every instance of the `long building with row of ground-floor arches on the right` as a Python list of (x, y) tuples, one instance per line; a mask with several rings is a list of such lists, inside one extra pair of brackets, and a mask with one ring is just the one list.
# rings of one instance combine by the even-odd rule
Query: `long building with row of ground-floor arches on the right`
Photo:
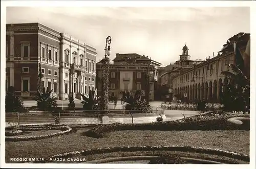
[(220, 102), (220, 93), (225, 92), (228, 78), (222, 71), (231, 71), (228, 66), (234, 60), (233, 43), (236, 41), (240, 53), (244, 55), (250, 34), (239, 33), (229, 38), (218, 56), (213, 56), (192, 68), (179, 71), (172, 77), (172, 87), (177, 98), (185, 98), (188, 102), (202, 101)]

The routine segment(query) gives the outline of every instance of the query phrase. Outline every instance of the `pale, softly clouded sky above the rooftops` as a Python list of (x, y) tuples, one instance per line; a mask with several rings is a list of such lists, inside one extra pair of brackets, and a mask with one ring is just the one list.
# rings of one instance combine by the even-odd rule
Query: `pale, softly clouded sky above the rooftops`
[(191, 60), (205, 60), (228, 38), (250, 33), (248, 7), (7, 7), (6, 21), (40, 22), (80, 39), (97, 49), (97, 61), (110, 35), (111, 60), (137, 53), (161, 66), (178, 60), (185, 43)]

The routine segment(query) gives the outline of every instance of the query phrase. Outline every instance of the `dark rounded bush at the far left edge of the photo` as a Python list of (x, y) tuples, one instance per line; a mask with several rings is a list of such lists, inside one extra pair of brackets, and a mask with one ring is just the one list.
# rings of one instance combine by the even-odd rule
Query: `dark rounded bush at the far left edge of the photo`
[(23, 101), (15, 94), (15, 89), (10, 86), (5, 96), (5, 111), (6, 112), (24, 112)]

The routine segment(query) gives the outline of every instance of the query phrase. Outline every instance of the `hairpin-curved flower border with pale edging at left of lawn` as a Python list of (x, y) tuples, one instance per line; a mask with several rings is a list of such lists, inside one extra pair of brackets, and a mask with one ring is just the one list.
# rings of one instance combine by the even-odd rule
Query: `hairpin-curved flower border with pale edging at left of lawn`
[(59, 130), (61, 130), (61, 132), (39, 135), (39, 136), (24, 136), (24, 137), (6, 136), (5, 140), (6, 141), (37, 140), (37, 139), (50, 138), (50, 137), (54, 137), (54, 136), (68, 134), (72, 131), (72, 128), (70, 128), (69, 126), (66, 126), (66, 125), (19, 126), (17, 129), (21, 130), (21, 131), (38, 131), (38, 130), (56, 130), (56, 129), (59, 129)]

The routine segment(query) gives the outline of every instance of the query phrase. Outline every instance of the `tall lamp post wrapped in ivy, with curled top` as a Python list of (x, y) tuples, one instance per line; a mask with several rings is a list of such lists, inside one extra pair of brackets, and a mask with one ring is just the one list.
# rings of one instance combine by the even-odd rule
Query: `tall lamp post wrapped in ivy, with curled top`
[(102, 110), (107, 111), (109, 109), (109, 68), (110, 68), (110, 59), (107, 56), (110, 56), (110, 43), (112, 39), (110, 36), (106, 37), (105, 44), (105, 58), (102, 59), (103, 70), (102, 70), (102, 93), (103, 93), (103, 107)]

